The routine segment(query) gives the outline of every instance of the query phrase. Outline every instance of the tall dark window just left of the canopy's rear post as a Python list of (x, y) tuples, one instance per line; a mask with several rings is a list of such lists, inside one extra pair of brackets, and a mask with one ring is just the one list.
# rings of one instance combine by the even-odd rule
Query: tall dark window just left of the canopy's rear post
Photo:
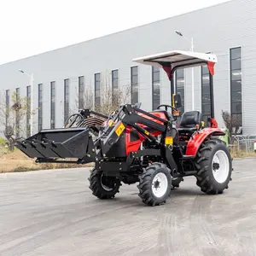
[(207, 125), (207, 119), (211, 118), (211, 94), (210, 94), (210, 73), (207, 66), (201, 67), (201, 114)]

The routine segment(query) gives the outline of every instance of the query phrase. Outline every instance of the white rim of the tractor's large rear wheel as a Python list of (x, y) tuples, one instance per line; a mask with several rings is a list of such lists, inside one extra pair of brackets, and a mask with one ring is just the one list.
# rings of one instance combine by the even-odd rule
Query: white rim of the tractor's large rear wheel
[(218, 183), (224, 183), (230, 172), (230, 161), (223, 150), (218, 150), (212, 159), (213, 177)]

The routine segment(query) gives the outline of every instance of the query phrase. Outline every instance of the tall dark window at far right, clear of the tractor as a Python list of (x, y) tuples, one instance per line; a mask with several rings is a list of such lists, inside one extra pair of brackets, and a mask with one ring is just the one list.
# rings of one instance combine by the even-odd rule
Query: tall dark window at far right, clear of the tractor
[(233, 126), (241, 127), (241, 47), (230, 49), (230, 99)]

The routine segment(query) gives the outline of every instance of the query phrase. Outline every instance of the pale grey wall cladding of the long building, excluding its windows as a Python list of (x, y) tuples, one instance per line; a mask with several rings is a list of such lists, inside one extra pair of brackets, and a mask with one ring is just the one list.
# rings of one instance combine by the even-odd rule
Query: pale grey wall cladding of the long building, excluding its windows
[[(186, 15), (160, 20), (146, 26), (118, 32), (107, 37), (96, 38), (81, 44), (56, 49), (0, 66), (0, 89), (15, 90), (20, 87), (21, 96), (26, 96), (28, 78), (18, 72), (21, 68), (34, 75), (33, 104), (38, 104), (38, 84), (44, 84), (43, 127), (49, 128), (50, 82), (56, 82), (56, 126), (63, 125), (64, 79), (70, 79), (71, 107), (76, 108), (79, 76), (84, 84), (93, 88), (94, 73), (103, 75), (119, 69), (119, 86), (130, 84), (130, 68), (137, 65), (131, 60), (142, 55), (151, 55), (172, 49), (189, 49), (189, 43), (175, 34), (181, 30), (188, 38), (193, 36), (195, 51), (218, 55), (214, 76), (215, 115), (222, 124), (221, 110), (230, 111), (230, 48), (242, 47), (242, 112), (243, 133), (256, 134), (256, 2), (233, 0), (211, 8), (201, 9)], [(151, 67), (139, 66), (139, 101), (142, 108), (152, 108)], [(185, 111), (191, 109), (191, 69), (185, 72)], [(170, 83), (166, 74), (160, 73), (160, 102), (170, 103)], [(201, 68), (195, 68), (195, 108), (201, 110)], [(34, 117), (37, 131), (38, 116)]]

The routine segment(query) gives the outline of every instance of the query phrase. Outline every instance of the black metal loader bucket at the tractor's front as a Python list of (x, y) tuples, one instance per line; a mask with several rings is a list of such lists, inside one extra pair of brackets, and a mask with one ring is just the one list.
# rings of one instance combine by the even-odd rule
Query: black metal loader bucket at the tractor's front
[(77, 158), (84, 157), (90, 137), (88, 127), (43, 130), (17, 141), (19, 148), (30, 158)]

